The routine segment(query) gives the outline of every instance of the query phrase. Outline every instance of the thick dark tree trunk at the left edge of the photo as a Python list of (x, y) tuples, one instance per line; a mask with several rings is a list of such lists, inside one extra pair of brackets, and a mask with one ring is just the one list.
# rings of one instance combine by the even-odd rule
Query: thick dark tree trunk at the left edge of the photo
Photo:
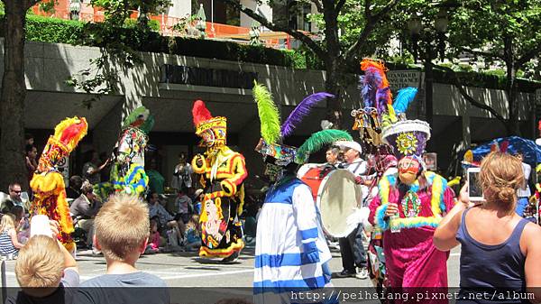
[(5, 41), (4, 78), (0, 96), (0, 188), (19, 182), (28, 187), (24, 163), (24, 23), (25, 3), (22, 0), (4, 0)]

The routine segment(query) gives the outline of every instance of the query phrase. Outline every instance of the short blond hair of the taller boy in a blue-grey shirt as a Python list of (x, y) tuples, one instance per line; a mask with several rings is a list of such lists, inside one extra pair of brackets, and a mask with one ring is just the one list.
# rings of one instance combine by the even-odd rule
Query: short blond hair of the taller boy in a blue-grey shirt
[(149, 209), (137, 196), (116, 194), (100, 208), (94, 226), (104, 255), (124, 261), (138, 252), (150, 235)]

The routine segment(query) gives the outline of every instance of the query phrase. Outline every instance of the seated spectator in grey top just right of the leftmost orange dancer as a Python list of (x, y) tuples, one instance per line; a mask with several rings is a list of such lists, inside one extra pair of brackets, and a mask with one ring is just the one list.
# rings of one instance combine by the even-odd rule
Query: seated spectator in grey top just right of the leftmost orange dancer
[(96, 194), (94, 194), (94, 187), (85, 181), (81, 188), (81, 195), (71, 203), (69, 213), (71, 213), (72, 216), (77, 216), (78, 226), (87, 233), (88, 247), (91, 247), (93, 244), (94, 216), (96, 216), (100, 207), (101, 203), (96, 198)]

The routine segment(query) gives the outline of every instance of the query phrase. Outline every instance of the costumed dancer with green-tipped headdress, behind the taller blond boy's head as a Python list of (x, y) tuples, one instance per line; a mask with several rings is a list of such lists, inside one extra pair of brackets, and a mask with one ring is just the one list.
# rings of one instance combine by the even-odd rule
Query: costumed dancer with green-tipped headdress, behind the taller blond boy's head
[(154, 117), (144, 106), (136, 108), (124, 119), (111, 157), (111, 180), (95, 186), (96, 195), (103, 201), (114, 193), (144, 195), (149, 184), (144, 171), (144, 151), (153, 125)]

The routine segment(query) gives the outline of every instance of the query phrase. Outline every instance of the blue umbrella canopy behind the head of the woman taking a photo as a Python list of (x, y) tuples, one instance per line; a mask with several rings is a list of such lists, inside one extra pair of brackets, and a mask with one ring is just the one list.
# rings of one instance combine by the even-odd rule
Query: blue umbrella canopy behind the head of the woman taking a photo
[(536, 142), (518, 137), (502, 137), (492, 140), (490, 143), (481, 144), (472, 149), (473, 160), (481, 161), (481, 159), (491, 152), (491, 146), (493, 143), (497, 143), (498, 146), (502, 146), (502, 143), (509, 143), (507, 152), (515, 154), (521, 152), (524, 156), (524, 162), (536, 166), (537, 163), (541, 163), (541, 146), (538, 146)]

